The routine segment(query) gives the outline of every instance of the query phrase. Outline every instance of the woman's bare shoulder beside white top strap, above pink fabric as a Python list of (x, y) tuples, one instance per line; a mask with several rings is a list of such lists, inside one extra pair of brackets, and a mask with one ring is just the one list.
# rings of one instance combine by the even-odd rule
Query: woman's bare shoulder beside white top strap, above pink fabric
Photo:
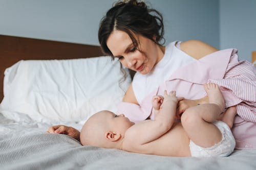
[(208, 54), (219, 51), (217, 48), (199, 40), (181, 42), (180, 50), (197, 60)]

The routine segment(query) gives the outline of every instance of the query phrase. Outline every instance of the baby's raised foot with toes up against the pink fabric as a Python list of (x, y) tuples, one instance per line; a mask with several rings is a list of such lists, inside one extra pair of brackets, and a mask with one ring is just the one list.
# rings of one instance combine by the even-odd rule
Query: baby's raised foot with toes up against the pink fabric
[(214, 83), (204, 84), (204, 89), (208, 95), (209, 103), (214, 103), (218, 105), (221, 109), (221, 112), (225, 109), (225, 100), (219, 89), (219, 86)]

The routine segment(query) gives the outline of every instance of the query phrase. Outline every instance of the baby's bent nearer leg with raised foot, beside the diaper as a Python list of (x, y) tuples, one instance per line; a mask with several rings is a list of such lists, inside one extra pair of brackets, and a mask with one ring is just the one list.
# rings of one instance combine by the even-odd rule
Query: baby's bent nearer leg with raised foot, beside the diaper
[(220, 130), (212, 124), (225, 107), (222, 93), (216, 84), (206, 84), (208, 104), (188, 108), (181, 116), (181, 123), (188, 137), (197, 145), (208, 148), (222, 139)]

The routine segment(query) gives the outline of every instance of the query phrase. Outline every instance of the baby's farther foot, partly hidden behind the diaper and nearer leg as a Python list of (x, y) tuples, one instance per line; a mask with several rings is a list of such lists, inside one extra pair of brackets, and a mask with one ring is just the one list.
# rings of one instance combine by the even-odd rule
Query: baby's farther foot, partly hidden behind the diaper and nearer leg
[(218, 120), (225, 122), (229, 128), (233, 127), (234, 116), (237, 114), (236, 106), (229, 107), (223, 114), (218, 117)]

